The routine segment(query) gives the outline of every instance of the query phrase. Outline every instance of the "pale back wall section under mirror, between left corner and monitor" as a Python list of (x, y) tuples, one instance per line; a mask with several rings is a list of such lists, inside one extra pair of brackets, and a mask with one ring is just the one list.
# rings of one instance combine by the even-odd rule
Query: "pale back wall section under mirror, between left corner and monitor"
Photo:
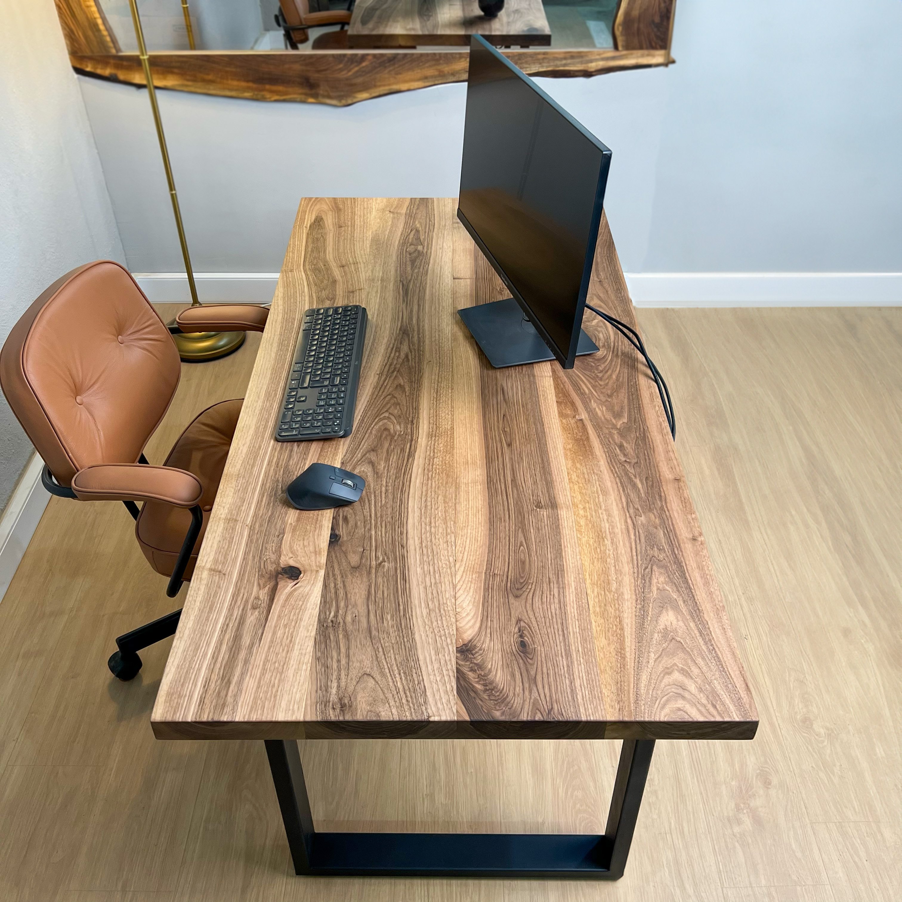
[[(146, 91), (79, 80), (130, 269), (184, 271)], [(278, 272), (305, 195), (456, 194), (463, 91), (343, 108), (158, 91), (194, 269)]]

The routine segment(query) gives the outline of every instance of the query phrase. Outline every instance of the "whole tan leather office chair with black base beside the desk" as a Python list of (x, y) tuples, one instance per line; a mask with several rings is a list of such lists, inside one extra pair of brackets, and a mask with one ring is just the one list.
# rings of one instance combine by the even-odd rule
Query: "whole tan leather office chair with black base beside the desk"
[[(267, 308), (209, 304), (179, 315), (186, 332), (262, 332)], [(49, 492), (80, 501), (121, 501), (167, 594), (189, 580), (226, 465), (242, 400), (203, 410), (161, 466), (144, 446), (179, 385), (179, 353), (131, 274), (97, 261), (67, 272), (13, 327), (0, 351), (0, 386), (45, 466)], [(137, 504), (143, 502), (139, 511)], [(180, 611), (116, 640), (109, 668), (141, 669), (137, 652), (171, 636)]]

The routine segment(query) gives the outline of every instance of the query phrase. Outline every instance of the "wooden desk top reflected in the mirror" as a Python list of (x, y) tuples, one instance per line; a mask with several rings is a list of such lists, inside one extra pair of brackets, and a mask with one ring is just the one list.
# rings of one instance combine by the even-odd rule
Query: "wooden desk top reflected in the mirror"
[(541, 0), (508, 0), (494, 19), (477, 0), (359, 0), (347, 29), (350, 47), (469, 46), (471, 34), (499, 46), (551, 44)]

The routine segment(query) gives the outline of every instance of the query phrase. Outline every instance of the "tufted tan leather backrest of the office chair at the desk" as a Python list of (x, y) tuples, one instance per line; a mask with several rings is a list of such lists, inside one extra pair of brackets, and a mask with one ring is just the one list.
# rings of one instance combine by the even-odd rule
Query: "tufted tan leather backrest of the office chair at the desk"
[(86, 466), (137, 462), (180, 372), (169, 330), (131, 274), (108, 260), (55, 281), (0, 352), (6, 400), (67, 486)]

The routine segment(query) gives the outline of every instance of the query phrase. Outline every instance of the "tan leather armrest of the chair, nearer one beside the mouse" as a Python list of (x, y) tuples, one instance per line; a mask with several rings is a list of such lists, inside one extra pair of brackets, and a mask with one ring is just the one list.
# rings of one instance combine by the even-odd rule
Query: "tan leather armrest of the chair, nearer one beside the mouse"
[(200, 480), (174, 466), (101, 464), (86, 466), (72, 477), (72, 491), (83, 502), (166, 502), (194, 507), (200, 502)]

